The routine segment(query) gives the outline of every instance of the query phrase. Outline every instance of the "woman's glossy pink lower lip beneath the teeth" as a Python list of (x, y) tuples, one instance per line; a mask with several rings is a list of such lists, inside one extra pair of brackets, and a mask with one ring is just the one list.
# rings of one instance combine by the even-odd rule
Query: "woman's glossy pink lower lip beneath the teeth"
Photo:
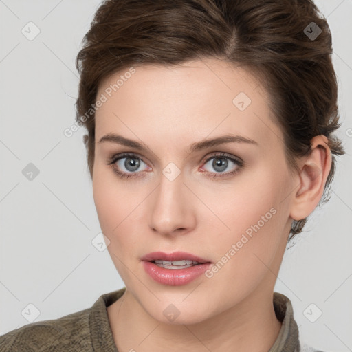
[(211, 265), (211, 263), (203, 263), (187, 267), (186, 269), (165, 269), (159, 267), (151, 261), (143, 261), (144, 270), (153, 280), (163, 285), (186, 285), (195, 278), (201, 276)]

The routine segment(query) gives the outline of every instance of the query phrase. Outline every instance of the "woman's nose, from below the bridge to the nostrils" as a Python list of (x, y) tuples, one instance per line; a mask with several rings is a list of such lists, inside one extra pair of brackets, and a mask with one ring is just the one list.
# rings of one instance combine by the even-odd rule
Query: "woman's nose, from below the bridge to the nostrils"
[(184, 184), (182, 173), (172, 181), (162, 175), (150, 200), (149, 226), (157, 234), (186, 234), (195, 228), (196, 197)]

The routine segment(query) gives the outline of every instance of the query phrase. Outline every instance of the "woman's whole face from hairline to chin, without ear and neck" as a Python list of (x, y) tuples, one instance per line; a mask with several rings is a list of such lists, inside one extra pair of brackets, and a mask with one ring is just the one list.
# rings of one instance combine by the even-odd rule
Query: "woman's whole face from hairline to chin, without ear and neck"
[[(149, 65), (104, 80), (98, 99), (94, 201), (135, 303), (190, 324), (271, 299), (297, 179), (259, 82), (215, 59)], [(236, 138), (206, 143), (223, 136)], [(162, 268), (151, 252), (208, 263)]]

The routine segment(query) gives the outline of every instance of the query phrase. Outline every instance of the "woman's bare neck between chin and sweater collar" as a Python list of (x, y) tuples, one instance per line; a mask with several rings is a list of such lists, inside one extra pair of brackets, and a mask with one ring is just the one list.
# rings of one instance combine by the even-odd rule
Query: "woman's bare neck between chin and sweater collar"
[(273, 292), (263, 287), (231, 309), (191, 325), (155, 320), (127, 289), (107, 310), (119, 351), (267, 352), (281, 329)]

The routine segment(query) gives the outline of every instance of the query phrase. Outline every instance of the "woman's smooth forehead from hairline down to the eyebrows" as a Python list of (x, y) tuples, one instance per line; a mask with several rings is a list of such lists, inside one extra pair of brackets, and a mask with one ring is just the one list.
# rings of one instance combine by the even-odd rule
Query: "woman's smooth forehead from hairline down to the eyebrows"
[(96, 111), (96, 140), (118, 132), (149, 142), (162, 137), (164, 146), (175, 146), (230, 132), (268, 143), (268, 133), (272, 142), (281, 133), (270, 118), (267, 92), (244, 67), (208, 59), (126, 72), (100, 83), (97, 99), (106, 101)]

